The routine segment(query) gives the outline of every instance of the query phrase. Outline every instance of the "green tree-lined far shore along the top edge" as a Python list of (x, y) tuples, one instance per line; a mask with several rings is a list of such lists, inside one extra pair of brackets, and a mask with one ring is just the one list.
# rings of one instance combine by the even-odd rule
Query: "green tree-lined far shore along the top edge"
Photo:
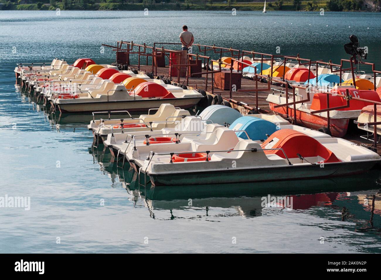
[[(117, 3), (101, 2), (95, 3), (91, 1), (70, 1), (62, 0), (50, 1), (49, 3), (38, 2), (35, 0), (29, 1), (36, 2), (32, 4), (21, 4), (19, 2), (11, 2), (0, 0), (0, 10), (29, 10), (29, 11), (46, 11), (46, 10), (88, 10), (88, 11), (143, 11), (145, 8), (154, 11), (261, 11), (263, 10), (264, 2), (215, 2), (205, 0), (203, 2), (196, 2), (192, 0), (183, 0), (176, 2), (161, 2), (142, 0), (142, 3)], [(43, 0), (42, 0), (43, 1)], [(346, 5), (347, 1), (352, 1), (351, 5)], [(46, 0), (45, 0), (46, 2)], [(132, 2), (132, 0), (131, 0)], [(357, 0), (357, 5), (353, 4), (353, 0), (311, 0), (311, 1), (282, 1), (266, 3), (266, 11), (369, 11), (363, 8), (363, 0)]]

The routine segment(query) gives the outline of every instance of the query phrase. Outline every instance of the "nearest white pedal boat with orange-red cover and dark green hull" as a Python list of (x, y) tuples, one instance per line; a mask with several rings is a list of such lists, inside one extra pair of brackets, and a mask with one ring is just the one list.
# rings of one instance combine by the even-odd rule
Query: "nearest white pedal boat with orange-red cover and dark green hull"
[[(381, 160), (375, 152), (341, 138), (315, 139), (282, 129), (260, 144), (234, 138), (234, 131), (227, 130), (217, 131), (221, 136), (230, 133), (228, 138), (161, 144), (157, 152), (150, 151), (154, 145), (140, 147), (141, 158), (135, 159), (141, 166), (139, 183), (178, 186), (327, 178), (363, 173)], [(201, 160), (184, 161), (196, 156)]]

